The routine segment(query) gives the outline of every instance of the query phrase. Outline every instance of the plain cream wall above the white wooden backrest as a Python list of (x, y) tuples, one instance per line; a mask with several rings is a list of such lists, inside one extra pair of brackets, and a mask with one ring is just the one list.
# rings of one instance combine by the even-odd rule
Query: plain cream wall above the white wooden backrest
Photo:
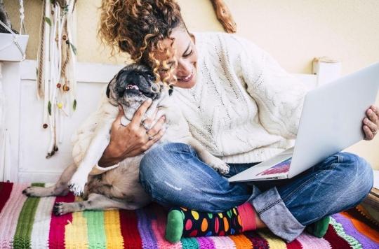
[[(24, 0), (30, 41), (27, 59), (36, 58), (42, 1)], [(109, 58), (96, 32), (101, 0), (77, 1), (79, 62), (123, 64)], [(343, 74), (379, 60), (378, 0), (225, 0), (237, 34), (270, 52), (291, 73), (311, 73), (312, 59), (343, 61)], [(18, 1), (4, 0), (18, 29)], [(178, 0), (191, 31), (223, 31), (210, 0)]]

